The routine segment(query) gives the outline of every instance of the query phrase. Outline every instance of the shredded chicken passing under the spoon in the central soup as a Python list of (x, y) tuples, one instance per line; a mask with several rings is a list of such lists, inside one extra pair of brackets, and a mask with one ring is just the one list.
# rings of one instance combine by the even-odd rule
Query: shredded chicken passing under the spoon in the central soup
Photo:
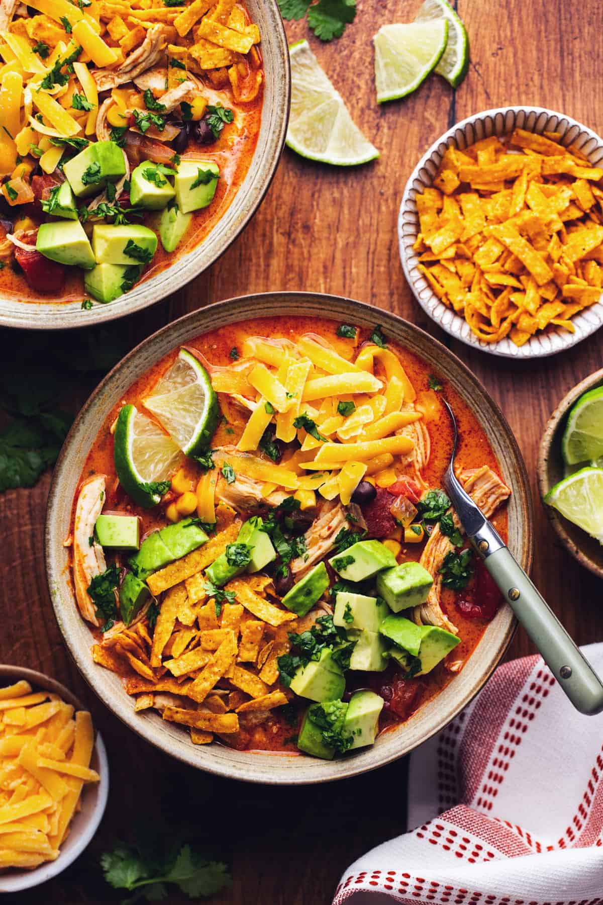
[[(487, 465), (462, 472), (459, 480), (463, 483), (469, 496), (482, 510), (486, 519), (489, 519), (500, 504), (511, 495), (511, 491), (504, 481), (501, 481)], [(453, 519), (457, 528), (462, 530), (454, 512)], [(444, 557), (454, 549), (456, 548), (450, 543), (450, 538), (442, 534), (436, 525), (420, 557), (421, 566), (433, 576), (433, 585), (429, 589), (426, 602), (413, 608), (412, 618), (418, 625), (438, 625), (440, 628), (447, 629), (448, 632), (457, 634), (457, 626), (450, 622), (439, 604), (442, 590), (442, 576), (439, 574), (439, 569), (444, 562)]]

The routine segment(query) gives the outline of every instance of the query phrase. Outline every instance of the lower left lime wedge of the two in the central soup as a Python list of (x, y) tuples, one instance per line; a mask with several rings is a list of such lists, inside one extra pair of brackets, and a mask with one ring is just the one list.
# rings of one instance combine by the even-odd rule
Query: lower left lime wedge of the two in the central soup
[(175, 472), (181, 458), (174, 441), (135, 405), (121, 407), (113, 459), (121, 486), (139, 506), (156, 506), (167, 491), (161, 484)]

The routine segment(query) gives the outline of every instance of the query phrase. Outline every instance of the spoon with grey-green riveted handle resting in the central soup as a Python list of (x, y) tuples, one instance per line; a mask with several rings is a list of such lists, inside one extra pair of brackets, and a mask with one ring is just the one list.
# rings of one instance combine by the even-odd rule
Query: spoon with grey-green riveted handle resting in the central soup
[(597, 673), (579, 652), (494, 525), (457, 481), (454, 472), (457, 419), (446, 399), (442, 402), (454, 428), (452, 455), (444, 483), (467, 538), (576, 710), (589, 715), (600, 713), (603, 710), (603, 683)]

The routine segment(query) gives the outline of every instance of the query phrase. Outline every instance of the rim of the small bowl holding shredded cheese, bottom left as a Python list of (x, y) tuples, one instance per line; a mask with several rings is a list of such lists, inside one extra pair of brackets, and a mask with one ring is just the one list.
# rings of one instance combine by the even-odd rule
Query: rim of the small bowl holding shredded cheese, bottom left
[[(42, 688), (44, 691), (52, 691), (60, 694), (61, 698), (72, 704), (76, 710), (87, 710), (85, 704), (70, 689), (60, 681), (52, 679), (37, 670), (30, 670), (25, 666), (14, 666), (10, 663), (0, 665), (0, 687), (4, 687), (4, 681), (20, 681), (24, 679), (30, 682), (33, 688)], [(46, 862), (31, 871), (12, 870), (0, 872), (0, 896), (6, 892), (21, 892), (39, 886), (47, 880), (52, 880), (72, 864), (90, 843), (92, 837), (99, 829), (108, 800), (108, 757), (107, 749), (99, 732), (95, 732), (94, 748), (90, 759), (90, 767), (97, 770), (100, 775), (98, 783), (88, 784), (82, 792), (83, 807), (76, 814), (71, 823), (71, 832), (65, 843), (61, 846), (61, 854), (56, 861)], [(90, 805), (90, 813), (86, 809)]]

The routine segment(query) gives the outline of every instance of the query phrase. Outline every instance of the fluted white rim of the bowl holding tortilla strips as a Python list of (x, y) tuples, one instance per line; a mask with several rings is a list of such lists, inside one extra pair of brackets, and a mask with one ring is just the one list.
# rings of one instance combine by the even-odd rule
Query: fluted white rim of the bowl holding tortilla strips
[(481, 352), (521, 360), (556, 355), (557, 352), (575, 346), (576, 343), (598, 330), (603, 325), (603, 295), (601, 301), (596, 305), (580, 311), (571, 319), (576, 330), (575, 333), (570, 333), (561, 327), (550, 326), (544, 332), (536, 333), (520, 347), (515, 346), (508, 337), (497, 343), (485, 343), (472, 333), (464, 318), (456, 311), (447, 308), (430, 289), (429, 283), (417, 268), (419, 255), (412, 251), (412, 245), (419, 233), (415, 196), (423, 186), (432, 184), (446, 149), (456, 147), (463, 150), (469, 145), (475, 144), (479, 138), (493, 134), (507, 134), (513, 131), (515, 126), (539, 133), (561, 131), (563, 132), (561, 144), (567, 146), (575, 143), (576, 147), (589, 157), (592, 166), (603, 162), (603, 138), (600, 138), (588, 126), (582, 125), (577, 119), (572, 119), (565, 113), (532, 106), (496, 107), (492, 110), (475, 113), (466, 119), (461, 119), (438, 138), (413, 170), (400, 204), (398, 243), (402, 268), (410, 289), (421, 308), (438, 324), (438, 327), (446, 330), (451, 337), (460, 339), (467, 346), (478, 348)]

